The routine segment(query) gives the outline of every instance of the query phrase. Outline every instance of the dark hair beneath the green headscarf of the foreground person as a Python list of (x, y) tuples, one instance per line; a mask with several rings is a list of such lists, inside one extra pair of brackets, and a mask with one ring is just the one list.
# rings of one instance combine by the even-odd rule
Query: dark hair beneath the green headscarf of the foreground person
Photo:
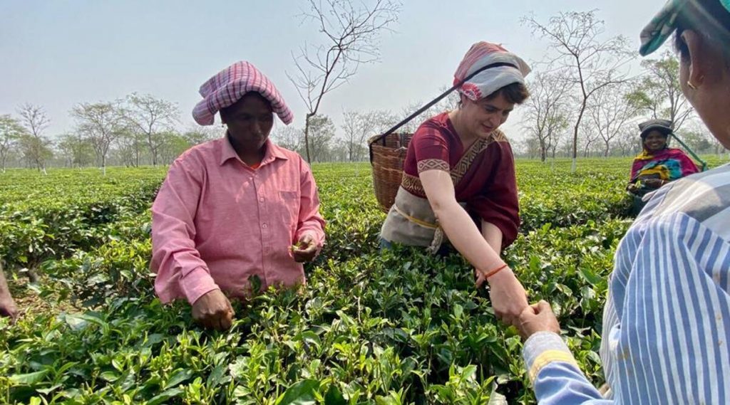
[(682, 34), (685, 30), (695, 31), (723, 51), (726, 63), (730, 65), (730, 12), (720, 0), (689, 0), (677, 17), (675, 48), (683, 60), (688, 60), (689, 50)]

